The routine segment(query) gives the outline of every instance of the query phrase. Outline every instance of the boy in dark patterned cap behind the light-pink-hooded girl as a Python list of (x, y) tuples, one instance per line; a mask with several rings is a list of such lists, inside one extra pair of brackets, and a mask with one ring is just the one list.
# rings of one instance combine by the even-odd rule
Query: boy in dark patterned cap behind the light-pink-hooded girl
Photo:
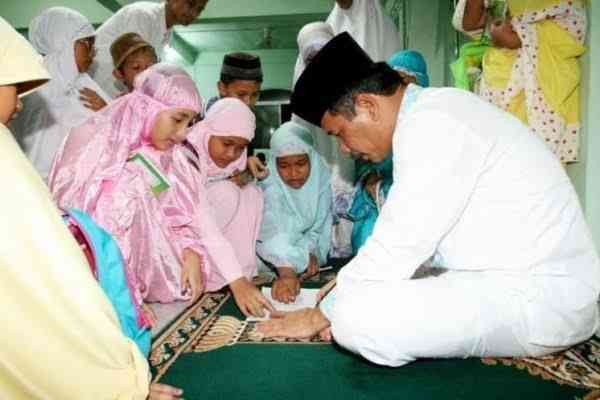
[(208, 100), (205, 111), (208, 111), (217, 100), (227, 97), (235, 97), (248, 107), (254, 107), (262, 81), (263, 73), (259, 57), (241, 52), (225, 54), (221, 77), (217, 82), (219, 96)]

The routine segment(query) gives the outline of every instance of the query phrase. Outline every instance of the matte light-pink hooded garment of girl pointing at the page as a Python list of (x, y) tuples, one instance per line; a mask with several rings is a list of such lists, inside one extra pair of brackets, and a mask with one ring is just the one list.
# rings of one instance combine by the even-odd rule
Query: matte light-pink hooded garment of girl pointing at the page
[(246, 151), (226, 168), (211, 159), (208, 142), (212, 136), (254, 138), (255, 117), (250, 108), (235, 98), (221, 99), (196, 124), (188, 141), (197, 155), (203, 190), (199, 202), (209, 206), (202, 215), (203, 244), (211, 275), (209, 290), (219, 289), (239, 278), (256, 274), (256, 240), (263, 214), (263, 195), (254, 184), (238, 187), (227, 178), (246, 169)]

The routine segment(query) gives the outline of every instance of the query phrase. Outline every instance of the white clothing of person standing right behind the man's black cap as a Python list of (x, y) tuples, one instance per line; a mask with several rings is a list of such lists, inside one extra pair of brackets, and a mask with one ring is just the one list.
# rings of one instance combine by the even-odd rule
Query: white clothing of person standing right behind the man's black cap
[(379, 0), (353, 0), (347, 10), (336, 2), (327, 23), (336, 35), (348, 32), (375, 62), (387, 60), (402, 48), (398, 30)]

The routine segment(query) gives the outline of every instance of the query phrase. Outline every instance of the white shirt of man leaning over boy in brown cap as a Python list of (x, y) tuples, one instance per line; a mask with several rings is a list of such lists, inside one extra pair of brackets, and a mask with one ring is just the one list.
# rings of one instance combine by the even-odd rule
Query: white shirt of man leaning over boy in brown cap
[(171, 39), (167, 29), (165, 3), (136, 1), (107, 19), (96, 32), (96, 58), (91, 75), (100, 87), (112, 97), (117, 97), (125, 88), (120, 87), (112, 74), (114, 69), (110, 45), (124, 33), (135, 32), (154, 47), (162, 56)]

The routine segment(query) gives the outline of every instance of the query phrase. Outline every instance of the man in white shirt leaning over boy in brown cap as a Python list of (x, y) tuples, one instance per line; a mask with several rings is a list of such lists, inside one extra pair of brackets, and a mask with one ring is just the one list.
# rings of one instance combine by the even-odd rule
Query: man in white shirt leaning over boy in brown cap
[(161, 57), (171, 39), (176, 25), (187, 26), (194, 22), (206, 7), (208, 0), (166, 0), (155, 3), (136, 1), (107, 19), (96, 32), (97, 51), (91, 75), (109, 95), (116, 97), (125, 88), (113, 76), (113, 60), (110, 46), (124, 33), (140, 35)]

